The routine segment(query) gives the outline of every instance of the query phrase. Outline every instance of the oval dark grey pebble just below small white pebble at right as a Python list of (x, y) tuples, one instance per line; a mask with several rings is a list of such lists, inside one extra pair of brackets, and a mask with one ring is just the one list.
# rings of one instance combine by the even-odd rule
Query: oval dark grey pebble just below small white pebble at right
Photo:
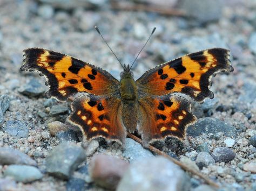
[(234, 159), (235, 153), (230, 148), (218, 147), (213, 150), (212, 157), (215, 162), (228, 162)]

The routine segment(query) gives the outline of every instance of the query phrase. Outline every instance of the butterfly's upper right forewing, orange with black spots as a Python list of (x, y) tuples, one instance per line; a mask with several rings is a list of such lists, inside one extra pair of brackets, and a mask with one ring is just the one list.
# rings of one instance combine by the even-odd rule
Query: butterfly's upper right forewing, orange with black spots
[(229, 57), (229, 51), (223, 48), (188, 54), (149, 70), (136, 82), (148, 94), (179, 92), (200, 102), (214, 97), (209, 90), (213, 74), (233, 71)]

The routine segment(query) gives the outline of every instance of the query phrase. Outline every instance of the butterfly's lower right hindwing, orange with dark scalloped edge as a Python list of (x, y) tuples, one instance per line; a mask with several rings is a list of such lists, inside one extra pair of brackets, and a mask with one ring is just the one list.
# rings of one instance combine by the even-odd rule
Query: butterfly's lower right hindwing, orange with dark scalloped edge
[(139, 100), (142, 114), (143, 144), (172, 136), (183, 139), (186, 127), (196, 121), (190, 112), (190, 103), (179, 96), (143, 97)]

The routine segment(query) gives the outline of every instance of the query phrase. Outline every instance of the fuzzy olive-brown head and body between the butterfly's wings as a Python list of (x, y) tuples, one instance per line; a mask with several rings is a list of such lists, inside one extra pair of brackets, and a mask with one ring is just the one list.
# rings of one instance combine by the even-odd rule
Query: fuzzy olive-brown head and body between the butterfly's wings
[(138, 88), (130, 72), (129, 65), (121, 73), (120, 95), (122, 101), (122, 121), (129, 132), (134, 132), (138, 123)]

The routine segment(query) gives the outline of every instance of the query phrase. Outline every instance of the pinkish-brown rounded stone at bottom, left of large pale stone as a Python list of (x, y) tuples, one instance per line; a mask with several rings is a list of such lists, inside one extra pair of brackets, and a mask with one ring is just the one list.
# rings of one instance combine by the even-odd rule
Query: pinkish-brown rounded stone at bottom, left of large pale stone
[(110, 155), (98, 154), (92, 158), (89, 169), (95, 183), (114, 190), (128, 167), (127, 161)]

